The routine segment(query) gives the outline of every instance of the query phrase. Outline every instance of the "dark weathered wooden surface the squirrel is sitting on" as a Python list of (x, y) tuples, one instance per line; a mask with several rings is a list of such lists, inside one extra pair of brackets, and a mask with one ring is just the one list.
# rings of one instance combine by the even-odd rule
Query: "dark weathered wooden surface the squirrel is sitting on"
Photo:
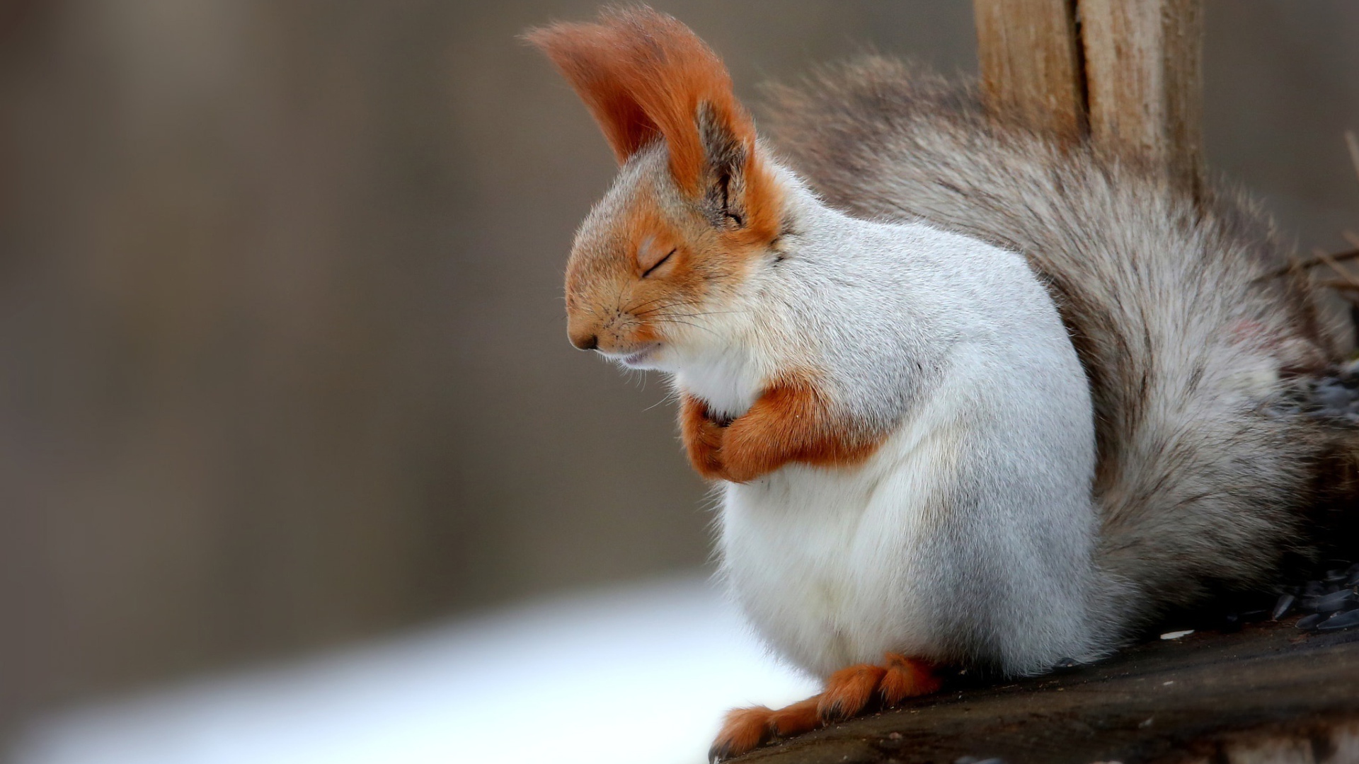
[[(1292, 621), (1154, 639), (1094, 666), (973, 685), (757, 749), (733, 764), (1260, 761), (1359, 752), (1359, 629)], [(1264, 759), (1269, 760), (1269, 759)], [(1288, 761), (1283, 759), (1282, 761)]]

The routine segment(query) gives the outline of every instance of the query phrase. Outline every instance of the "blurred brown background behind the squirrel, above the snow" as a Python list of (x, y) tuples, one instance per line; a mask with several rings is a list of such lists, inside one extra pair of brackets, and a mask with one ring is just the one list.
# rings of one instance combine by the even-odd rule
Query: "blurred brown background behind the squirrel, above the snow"
[[(655, 5), (750, 101), (868, 46), (976, 68), (964, 0)], [(704, 563), (665, 385), (564, 337), (613, 164), (515, 34), (594, 7), (0, 0), (0, 730)], [(1207, 18), (1212, 169), (1343, 249), (1359, 4)]]

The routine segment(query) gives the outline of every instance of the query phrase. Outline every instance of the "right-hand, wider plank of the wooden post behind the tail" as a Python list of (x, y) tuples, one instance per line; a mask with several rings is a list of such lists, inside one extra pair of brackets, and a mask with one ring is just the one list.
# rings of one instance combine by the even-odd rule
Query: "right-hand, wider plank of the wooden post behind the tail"
[(1150, 159), (1180, 189), (1203, 177), (1201, 0), (1078, 0), (1090, 136)]

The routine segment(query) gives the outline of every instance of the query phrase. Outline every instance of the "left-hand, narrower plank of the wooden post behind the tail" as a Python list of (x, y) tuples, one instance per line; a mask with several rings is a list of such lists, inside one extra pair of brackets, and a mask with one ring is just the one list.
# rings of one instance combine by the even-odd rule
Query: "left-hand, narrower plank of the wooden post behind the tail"
[(976, 0), (981, 86), (1036, 129), (1084, 132), (1080, 46), (1068, 0)]

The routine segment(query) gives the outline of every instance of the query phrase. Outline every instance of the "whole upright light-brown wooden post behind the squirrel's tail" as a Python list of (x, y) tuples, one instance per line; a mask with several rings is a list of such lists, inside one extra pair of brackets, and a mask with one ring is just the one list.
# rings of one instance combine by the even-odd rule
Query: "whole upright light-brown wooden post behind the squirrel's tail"
[(988, 103), (1203, 188), (1203, 0), (974, 0)]

